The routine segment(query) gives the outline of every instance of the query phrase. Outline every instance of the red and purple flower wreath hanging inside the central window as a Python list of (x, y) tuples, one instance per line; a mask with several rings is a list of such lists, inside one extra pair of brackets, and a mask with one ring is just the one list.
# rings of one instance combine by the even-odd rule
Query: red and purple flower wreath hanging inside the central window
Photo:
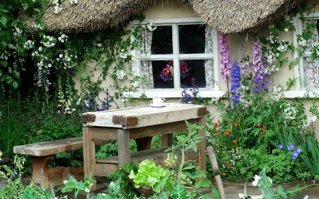
[[(180, 60), (179, 61), (179, 69), (181, 72), (181, 78), (186, 79), (186, 77), (189, 76), (189, 71), (191, 70), (189, 68), (189, 64), (187, 64), (186, 60)], [(163, 81), (169, 81), (173, 80), (174, 78), (174, 64), (173, 60), (168, 60), (166, 67), (162, 69), (161, 74), (159, 76), (162, 78)]]

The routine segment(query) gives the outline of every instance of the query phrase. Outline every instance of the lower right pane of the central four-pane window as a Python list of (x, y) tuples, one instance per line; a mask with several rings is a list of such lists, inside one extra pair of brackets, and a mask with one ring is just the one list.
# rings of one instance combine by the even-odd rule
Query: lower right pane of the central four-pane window
[(205, 88), (206, 79), (211, 79), (206, 78), (206, 74), (208, 76), (213, 75), (213, 66), (207, 64), (212, 62), (207, 61), (208, 60), (205, 59), (180, 60), (179, 69), (181, 73), (181, 86), (198, 86), (199, 88)]

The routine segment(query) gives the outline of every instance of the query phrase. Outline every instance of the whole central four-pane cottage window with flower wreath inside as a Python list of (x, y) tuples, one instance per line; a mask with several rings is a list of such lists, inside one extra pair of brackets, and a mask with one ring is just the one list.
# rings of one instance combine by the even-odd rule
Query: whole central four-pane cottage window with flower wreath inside
[[(140, 31), (140, 49), (135, 50), (138, 76), (144, 77), (139, 97), (181, 97), (182, 87), (198, 86), (201, 97), (223, 96), (214, 80), (218, 76), (217, 32), (200, 18), (147, 20)], [(147, 82), (147, 84), (145, 84)]]

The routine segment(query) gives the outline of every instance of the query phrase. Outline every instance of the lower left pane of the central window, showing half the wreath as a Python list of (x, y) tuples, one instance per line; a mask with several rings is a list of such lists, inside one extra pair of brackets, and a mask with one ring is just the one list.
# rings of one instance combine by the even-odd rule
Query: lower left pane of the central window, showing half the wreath
[(155, 89), (174, 89), (173, 61), (152, 61)]

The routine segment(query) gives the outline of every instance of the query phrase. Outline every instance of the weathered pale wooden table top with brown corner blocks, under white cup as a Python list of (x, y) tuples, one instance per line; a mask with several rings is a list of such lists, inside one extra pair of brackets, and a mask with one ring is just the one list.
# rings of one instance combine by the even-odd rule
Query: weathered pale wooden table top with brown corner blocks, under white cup
[(164, 103), (163, 107), (137, 106), (99, 112), (84, 113), (84, 126), (119, 127), (123, 129), (174, 123), (181, 120), (203, 118), (206, 106)]

